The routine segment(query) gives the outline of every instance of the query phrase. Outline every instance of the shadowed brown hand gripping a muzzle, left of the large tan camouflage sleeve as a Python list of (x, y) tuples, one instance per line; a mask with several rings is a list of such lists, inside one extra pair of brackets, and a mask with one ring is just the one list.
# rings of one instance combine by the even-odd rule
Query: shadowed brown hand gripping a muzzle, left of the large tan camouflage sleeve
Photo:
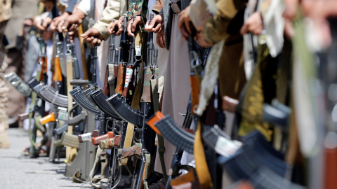
[(181, 35), (187, 41), (188, 36), (192, 34), (193, 24), (190, 18), (190, 6), (187, 6), (180, 13), (178, 27), (180, 29)]

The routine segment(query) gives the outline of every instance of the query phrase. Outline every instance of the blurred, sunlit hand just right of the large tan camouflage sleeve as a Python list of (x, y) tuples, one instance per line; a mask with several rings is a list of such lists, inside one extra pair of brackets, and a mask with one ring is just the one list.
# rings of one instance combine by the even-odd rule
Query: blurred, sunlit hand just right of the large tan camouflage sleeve
[(263, 30), (263, 20), (261, 13), (255, 12), (249, 16), (240, 29), (240, 34), (248, 34), (251, 32), (254, 35), (260, 35)]

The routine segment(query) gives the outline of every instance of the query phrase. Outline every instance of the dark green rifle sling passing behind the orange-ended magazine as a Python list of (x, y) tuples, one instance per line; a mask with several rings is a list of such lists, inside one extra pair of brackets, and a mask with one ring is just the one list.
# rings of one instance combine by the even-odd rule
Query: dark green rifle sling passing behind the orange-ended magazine
[[(157, 112), (159, 111), (157, 79), (151, 78), (150, 85), (151, 85), (151, 92), (152, 92), (153, 109), (154, 109), (154, 112)], [(159, 134), (157, 134), (157, 138), (158, 138), (158, 153), (159, 153), (161, 170), (163, 171), (165, 183), (167, 183), (167, 172), (166, 172), (165, 159), (164, 159), (164, 153), (165, 153), (164, 138)]]

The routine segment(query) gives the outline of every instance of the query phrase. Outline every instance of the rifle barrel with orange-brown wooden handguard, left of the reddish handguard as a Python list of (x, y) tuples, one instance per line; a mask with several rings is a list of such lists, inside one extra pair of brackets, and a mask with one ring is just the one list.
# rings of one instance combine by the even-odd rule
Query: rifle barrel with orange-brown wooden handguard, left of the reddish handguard
[(122, 94), (124, 90), (124, 80), (125, 80), (125, 68), (126, 68), (126, 60), (128, 59), (128, 39), (127, 39), (127, 31), (126, 25), (128, 18), (124, 17), (123, 22), (123, 31), (121, 31), (121, 41), (119, 43), (119, 64), (118, 64), (118, 78), (116, 85), (116, 93)]

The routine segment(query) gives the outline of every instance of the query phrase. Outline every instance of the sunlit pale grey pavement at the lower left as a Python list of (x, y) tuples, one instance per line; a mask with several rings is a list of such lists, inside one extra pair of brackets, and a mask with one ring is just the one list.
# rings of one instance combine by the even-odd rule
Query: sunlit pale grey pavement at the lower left
[[(31, 159), (21, 155), (22, 149), (29, 146), (27, 132), (11, 128), (8, 137), (11, 148), (0, 149), (0, 188), (81, 188), (81, 183), (64, 176), (65, 163), (51, 164), (46, 157)], [(85, 184), (82, 188), (92, 187)]]

